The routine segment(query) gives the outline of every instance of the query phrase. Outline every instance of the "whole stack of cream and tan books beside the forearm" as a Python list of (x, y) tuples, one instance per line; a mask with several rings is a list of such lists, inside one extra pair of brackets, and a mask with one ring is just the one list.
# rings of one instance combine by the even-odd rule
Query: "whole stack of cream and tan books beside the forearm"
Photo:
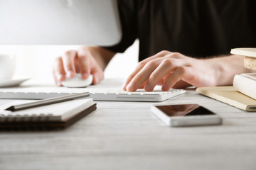
[[(245, 67), (256, 70), (256, 48), (235, 48), (230, 53), (245, 56)], [(233, 86), (200, 87), (196, 91), (244, 111), (256, 111), (255, 89), (256, 72), (235, 75)]]

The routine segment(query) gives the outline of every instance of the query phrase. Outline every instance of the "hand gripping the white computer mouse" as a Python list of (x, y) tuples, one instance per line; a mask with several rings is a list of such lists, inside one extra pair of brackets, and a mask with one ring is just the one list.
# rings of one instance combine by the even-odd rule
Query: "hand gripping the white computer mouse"
[(92, 84), (98, 84), (104, 79), (103, 69), (95, 60), (93, 47), (81, 47), (79, 50), (69, 50), (62, 56), (57, 57), (53, 64), (53, 77), (58, 86), (65, 77), (75, 77), (76, 73), (81, 74), (82, 79), (93, 75)]

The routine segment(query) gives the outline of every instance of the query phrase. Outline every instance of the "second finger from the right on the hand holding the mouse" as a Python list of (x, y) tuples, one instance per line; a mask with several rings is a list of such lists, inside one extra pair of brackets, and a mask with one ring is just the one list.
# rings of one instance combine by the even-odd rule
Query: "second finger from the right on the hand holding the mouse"
[(87, 79), (90, 76), (90, 58), (91, 53), (88, 50), (78, 50), (78, 67), (80, 70), (81, 78)]

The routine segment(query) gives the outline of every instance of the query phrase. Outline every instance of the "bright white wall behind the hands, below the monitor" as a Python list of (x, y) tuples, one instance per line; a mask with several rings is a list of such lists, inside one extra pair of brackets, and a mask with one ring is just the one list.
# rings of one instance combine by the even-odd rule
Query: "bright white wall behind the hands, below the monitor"
[[(55, 57), (66, 50), (78, 49), (75, 45), (13, 46), (0, 45), (0, 53), (16, 55), (15, 77), (33, 77), (53, 82), (52, 65)], [(139, 40), (123, 54), (117, 54), (105, 69), (105, 78), (123, 78), (136, 67), (138, 62)]]

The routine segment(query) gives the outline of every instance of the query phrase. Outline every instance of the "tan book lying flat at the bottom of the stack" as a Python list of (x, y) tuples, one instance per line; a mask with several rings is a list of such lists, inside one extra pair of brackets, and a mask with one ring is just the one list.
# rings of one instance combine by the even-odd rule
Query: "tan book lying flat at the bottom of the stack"
[(256, 111), (256, 100), (240, 93), (234, 86), (199, 87), (196, 91), (243, 111)]

